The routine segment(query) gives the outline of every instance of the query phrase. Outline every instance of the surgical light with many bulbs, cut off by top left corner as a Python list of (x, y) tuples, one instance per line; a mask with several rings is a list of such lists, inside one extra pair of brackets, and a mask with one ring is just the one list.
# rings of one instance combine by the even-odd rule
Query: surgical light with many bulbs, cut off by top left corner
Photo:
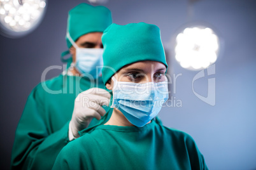
[(0, 0), (1, 33), (7, 37), (28, 34), (39, 24), (46, 0)]

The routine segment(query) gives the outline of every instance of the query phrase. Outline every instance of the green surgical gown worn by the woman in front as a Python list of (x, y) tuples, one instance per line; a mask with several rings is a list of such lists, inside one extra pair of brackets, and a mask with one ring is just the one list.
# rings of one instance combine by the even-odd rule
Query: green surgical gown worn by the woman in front
[(99, 125), (64, 147), (57, 169), (208, 169), (186, 133), (152, 120), (136, 126)]

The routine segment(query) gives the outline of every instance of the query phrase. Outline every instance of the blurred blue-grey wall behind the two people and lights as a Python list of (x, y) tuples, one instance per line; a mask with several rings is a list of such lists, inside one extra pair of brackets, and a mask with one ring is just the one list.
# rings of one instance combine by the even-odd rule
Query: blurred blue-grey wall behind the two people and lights
[[(45, 16), (30, 34), (0, 35), (0, 167), (9, 169), (15, 129), (27, 96), (52, 65), (63, 66), (68, 11), (82, 0), (47, 1)], [(159, 116), (165, 126), (190, 134), (209, 169), (256, 169), (256, 1), (254, 0), (108, 0), (113, 22), (159, 26), (169, 62), (173, 96)], [(194, 80), (200, 70), (183, 69), (174, 57), (174, 39), (188, 23), (203, 23), (220, 38), (220, 56), (212, 75)], [(122, 60), (120, 58), (120, 60)], [(213, 68), (214, 69), (214, 68)], [(63, 70), (48, 72), (47, 79)], [(178, 75), (178, 76), (177, 76)], [(208, 104), (208, 80), (215, 80)], [(214, 88), (215, 86), (215, 88)]]

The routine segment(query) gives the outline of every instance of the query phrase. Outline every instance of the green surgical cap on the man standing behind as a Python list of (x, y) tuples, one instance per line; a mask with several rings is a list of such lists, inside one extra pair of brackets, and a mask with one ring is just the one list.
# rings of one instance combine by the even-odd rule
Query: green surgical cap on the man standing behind
[[(108, 8), (82, 3), (69, 11), (68, 31), (73, 41), (76, 41), (84, 34), (103, 32), (111, 23), (111, 11)], [(71, 48), (67, 37), (66, 41), (68, 48)]]

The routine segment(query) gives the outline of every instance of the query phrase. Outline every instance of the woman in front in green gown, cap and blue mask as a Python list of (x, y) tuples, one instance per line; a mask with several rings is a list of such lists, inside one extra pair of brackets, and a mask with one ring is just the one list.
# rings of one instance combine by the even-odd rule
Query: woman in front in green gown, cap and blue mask
[(168, 98), (159, 28), (113, 23), (102, 40), (111, 117), (81, 131), (60, 151), (53, 169), (208, 169), (192, 137), (156, 117)]

